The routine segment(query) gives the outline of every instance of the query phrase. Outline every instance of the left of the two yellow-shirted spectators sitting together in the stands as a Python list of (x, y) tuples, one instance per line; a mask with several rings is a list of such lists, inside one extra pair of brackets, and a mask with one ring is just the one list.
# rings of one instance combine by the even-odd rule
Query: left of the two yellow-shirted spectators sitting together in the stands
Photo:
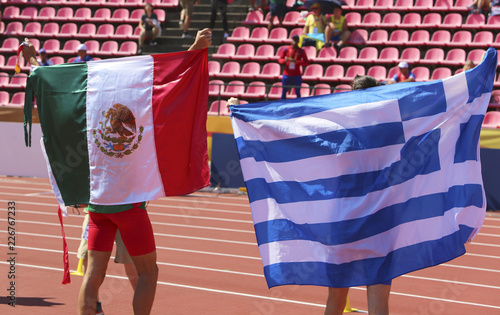
[(314, 3), (311, 6), (312, 14), (306, 18), (306, 25), (300, 36), (299, 46), (316, 46), (321, 49), (325, 44), (325, 27), (328, 25), (326, 17), (321, 14), (321, 5)]

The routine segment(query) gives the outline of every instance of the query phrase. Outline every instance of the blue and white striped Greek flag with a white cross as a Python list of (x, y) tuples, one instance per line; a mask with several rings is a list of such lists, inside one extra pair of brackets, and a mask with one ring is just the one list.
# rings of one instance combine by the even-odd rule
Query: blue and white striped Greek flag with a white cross
[(464, 254), (496, 66), (490, 48), (444, 80), (232, 106), (269, 287), (378, 284)]

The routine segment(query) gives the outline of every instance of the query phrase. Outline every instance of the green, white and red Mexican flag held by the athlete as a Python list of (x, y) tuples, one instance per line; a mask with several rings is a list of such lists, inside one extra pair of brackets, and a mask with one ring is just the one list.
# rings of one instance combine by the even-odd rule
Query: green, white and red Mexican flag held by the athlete
[(206, 49), (36, 68), (26, 87), (27, 145), (33, 97), (66, 206), (129, 204), (209, 185)]

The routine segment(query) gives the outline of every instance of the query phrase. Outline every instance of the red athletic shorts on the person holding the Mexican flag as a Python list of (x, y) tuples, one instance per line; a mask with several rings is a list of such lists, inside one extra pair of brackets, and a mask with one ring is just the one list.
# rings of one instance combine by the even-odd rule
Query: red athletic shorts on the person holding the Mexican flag
[(89, 211), (89, 250), (110, 252), (116, 229), (120, 230), (130, 256), (145, 255), (156, 250), (148, 212), (141, 208), (117, 213)]

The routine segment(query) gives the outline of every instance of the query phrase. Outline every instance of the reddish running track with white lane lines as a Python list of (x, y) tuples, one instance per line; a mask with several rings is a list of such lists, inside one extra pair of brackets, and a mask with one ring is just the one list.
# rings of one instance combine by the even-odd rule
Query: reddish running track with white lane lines
[[(8, 201), (16, 203), (15, 308), (6, 299)], [(0, 314), (76, 314), (82, 277), (61, 284), (56, 210), (48, 180), (0, 177)], [(148, 212), (160, 268), (153, 314), (323, 314), (325, 288), (267, 288), (246, 196), (198, 192), (156, 200)], [(72, 271), (82, 220), (75, 214), (64, 219)], [(395, 279), (391, 314), (500, 314), (500, 217), (488, 213), (467, 250)], [(110, 261), (100, 295), (106, 315), (132, 314), (132, 290), (121, 265)], [(352, 288), (349, 297), (352, 307), (366, 311), (364, 288)]]

